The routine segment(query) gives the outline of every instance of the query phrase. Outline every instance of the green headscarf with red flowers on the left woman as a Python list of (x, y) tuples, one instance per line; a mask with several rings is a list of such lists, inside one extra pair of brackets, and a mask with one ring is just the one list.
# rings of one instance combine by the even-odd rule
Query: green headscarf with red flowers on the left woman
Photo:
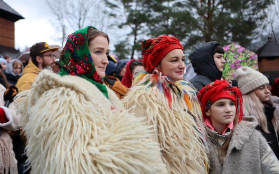
[(107, 98), (108, 90), (103, 85), (104, 78), (98, 75), (95, 70), (93, 59), (91, 57), (87, 31), (93, 26), (87, 26), (83, 29), (68, 36), (67, 42), (60, 55), (59, 63), (61, 65), (61, 72), (59, 75), (79, 76), (95, 85)]

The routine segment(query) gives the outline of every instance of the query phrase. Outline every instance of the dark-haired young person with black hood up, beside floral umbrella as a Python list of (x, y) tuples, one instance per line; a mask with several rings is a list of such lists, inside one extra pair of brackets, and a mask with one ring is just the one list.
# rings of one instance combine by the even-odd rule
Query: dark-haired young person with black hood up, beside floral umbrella
[(207, 42), (191, 53), (190, 60), (197, 75), (190, 82), (198, 91), (216, 80), (221, 80), (226, 63), (224, 53), (225, 50), (215, 41)]

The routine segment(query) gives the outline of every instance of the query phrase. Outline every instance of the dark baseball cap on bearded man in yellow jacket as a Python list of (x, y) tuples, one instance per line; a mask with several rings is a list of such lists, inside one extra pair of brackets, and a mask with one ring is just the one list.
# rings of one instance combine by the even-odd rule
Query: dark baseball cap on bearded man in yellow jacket
[(59, 48), (57, 47), (50, 47), (46, 42), (39, 42), (39, 43), (35, 43), (30, 48), (30, 56), (31, 58), (35, 58), (36, 56), (39, 56), (46, 51), (56, 51), (58, 49)]

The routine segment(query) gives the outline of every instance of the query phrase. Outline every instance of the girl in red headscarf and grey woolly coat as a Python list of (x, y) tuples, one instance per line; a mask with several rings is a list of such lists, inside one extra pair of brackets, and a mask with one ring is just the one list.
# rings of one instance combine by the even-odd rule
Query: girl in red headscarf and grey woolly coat
[(226, 81), (200, 90), (198, 98), (208, 134), (210, 174), (278, 174), (279, 161), (254, 117), (242, 120), (242, 94)]

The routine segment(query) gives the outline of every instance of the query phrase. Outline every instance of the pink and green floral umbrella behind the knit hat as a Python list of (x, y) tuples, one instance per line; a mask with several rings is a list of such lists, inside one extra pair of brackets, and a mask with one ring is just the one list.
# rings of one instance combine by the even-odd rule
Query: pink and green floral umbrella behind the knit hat
[(231, 80), (236, 79), (236, 70), (241, 67), (250, 67), (259, 70), (258, 55), (237, 43), (224, 46), (224, 59), (226, 64), (223, 71), (223, 78)]

